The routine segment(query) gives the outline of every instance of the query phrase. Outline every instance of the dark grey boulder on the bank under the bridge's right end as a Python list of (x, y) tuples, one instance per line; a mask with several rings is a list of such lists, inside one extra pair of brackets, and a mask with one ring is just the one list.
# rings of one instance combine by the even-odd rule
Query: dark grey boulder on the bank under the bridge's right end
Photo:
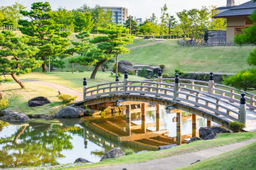
[(202, 140), (212, 140), (217, 134), (219, 133), (227, 133), (230, 132), (229, 130), (225, 130), (224, 128), (220, 127), (201, 127), (199, 129), (199, 137)]

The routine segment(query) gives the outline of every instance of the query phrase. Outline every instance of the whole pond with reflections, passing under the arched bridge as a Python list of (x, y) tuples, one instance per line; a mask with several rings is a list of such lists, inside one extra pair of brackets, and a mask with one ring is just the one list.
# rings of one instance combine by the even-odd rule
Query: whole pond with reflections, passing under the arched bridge
[[(192, 120), (183, 113), (181, 135), (191, 134)], [(160, 130), (166, 136), (155, 135), (155, 111), (146, 114), (148, 138), (138, 138), (141, 114), (132, 114), (132, 136), (126, 137), (125, 115), (119, 113), (107, 118), (97, 116), (73, 120), (31, 120), (23, 125), (11, 125), (0, 121), (0, 168), (20, 166), (52, 166), (75, 162), (79, 157), (90, 162), (100, 162), (102, 156), (112, 147), (135, 151), (157, 150), (159, 145), (175, 143), (176, 114), (161, 110)], [(198, 118), (197, 130), (206, 126), (206, 119)], [(122, 140), (127, 139), (127, 140)], [(186, 140), (186, 139), (185, 139)]]

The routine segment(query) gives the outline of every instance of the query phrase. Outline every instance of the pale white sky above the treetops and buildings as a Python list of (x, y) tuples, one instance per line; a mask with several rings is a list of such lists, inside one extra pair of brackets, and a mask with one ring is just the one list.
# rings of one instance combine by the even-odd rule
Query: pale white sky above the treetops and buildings
[[(0, 6), (11, 6), (17, 0), (0, 0)], [(27, 6), (30, 10), (33, 2), (44, 0), (18, 0), (23, 6)], [(235, 0), (235, 5), (243, 4), (249, 0)], [(226, 6), (227, 0), (48, 0), (53, 10), (58, 7), (64, 7), (68, 10), (79, 8), (83, 4), (94, 7), (96, 4), (100, 6), (122, 6), (128, 8), (128, 14), (136, 16), (136, 18), (149, 18), (152, 13), (155, 13), (159, 18), (161, 7), (167, 4), (167, 13), (175, 15), (176, 12), (183, 9), (201, 8), (201, 6)]]

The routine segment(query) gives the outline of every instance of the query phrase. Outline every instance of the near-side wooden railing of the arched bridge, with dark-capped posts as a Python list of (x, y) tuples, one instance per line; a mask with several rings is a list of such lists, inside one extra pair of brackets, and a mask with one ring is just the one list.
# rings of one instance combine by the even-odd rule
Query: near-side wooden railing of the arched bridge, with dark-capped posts
[[(159, 81), (160, 80), (160, 81)], [(223, 89), (215, 89), (213, 81), (208, 83), (205, 81), (197, 81), (201, 84), (205, 83), (208, 86), (198, 84), (184, 84), (179, 82), (178, 74), (174, 79), (174, 84), (157, 81), (129, 81), (128, 74), (124, 75), (124, 81), (119, 81), (118, 77), (115, 82), (106, 84), (98, 84), (87, 88), (86, 79), (84, 81), (84, 100), (87, 98), (97, 98), (106, 95), (118, 94), (136, 94), (153, 96), (157, 98), (165, 98), (166, 100), (174, 100), (187, 105), (203, 108), (204, 110), (228, 118), (230, 121), (240, 121), (245, 123), (245, 103), (240, 105), (235, 103), (238, 100), (229, 100), (224, 96), (216, 96), (213, 91), (223, 91)], [(181, 79), (181, 81), (184, 81)], [(191, 81), (191, 80), (185, 80)], [(191, 81), (195, 82), (195, 81)], [(187, 86), (190, 86), (188, 88)], [(195, 87), (197, 89), (195, 89)], [(210, 89), (210, 90), (209, 90)], [(226, 93), (226, 91), (225, 91)], [(234, 95), (234, 94), (233, 94)], [(242, 98), (245, 100), (244, 96)], [(231, 101), (231, 102), (230, 102)], [(241, 107), (242, 106), (242, 107)]]

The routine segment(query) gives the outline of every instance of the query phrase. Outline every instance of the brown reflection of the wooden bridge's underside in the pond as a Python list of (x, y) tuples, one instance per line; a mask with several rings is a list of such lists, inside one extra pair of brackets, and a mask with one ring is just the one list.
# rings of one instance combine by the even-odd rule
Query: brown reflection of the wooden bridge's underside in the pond
[[(102, 147), (129, 147), (135, 150), (157, 150), (161, 145), (176, 144), (176, 137), (168, 137), (168, 130), (143, 132), (142, 126), (145, 128), (156, 127), (156, 123), (143, 123), (136, 125), (130, 123), (130, 134), (127, 131), (126, 115), (117, 115), (110, 118), (90, 118), (85, 120), (80, 125), (84, 128), (85, 145), (87, 140), (95, 142)], [(159, 126), (164, 125), (163, 122)], [(192, 135), (182, 135), (181, 142), (186, 143), (186, 138), (191, 138)]]

